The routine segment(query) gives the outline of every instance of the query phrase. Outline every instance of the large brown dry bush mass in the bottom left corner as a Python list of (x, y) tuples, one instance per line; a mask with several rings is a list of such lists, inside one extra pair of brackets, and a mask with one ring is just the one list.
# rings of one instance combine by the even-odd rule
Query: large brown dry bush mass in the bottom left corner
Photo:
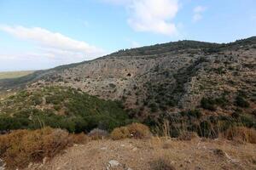
[(17, 130), (0, 136), (0, 156), (9, 169), (22, 168), (55, 156), (69, 144), (68, 133), (61, 129)]

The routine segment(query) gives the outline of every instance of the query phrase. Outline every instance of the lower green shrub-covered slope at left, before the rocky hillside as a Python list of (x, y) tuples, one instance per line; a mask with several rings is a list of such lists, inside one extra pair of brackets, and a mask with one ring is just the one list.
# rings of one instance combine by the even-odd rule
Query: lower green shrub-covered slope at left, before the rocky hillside
[(0, 131), (61, 127), (72, 133), (99, 127), (111, 131), (130, 123), (122, 105), (73, 88), (21, 91), (0, 103)]

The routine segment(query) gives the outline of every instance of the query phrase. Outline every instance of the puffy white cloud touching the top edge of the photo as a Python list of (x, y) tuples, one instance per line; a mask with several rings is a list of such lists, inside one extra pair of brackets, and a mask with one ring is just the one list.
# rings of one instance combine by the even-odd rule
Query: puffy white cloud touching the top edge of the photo
[(177, 15), (178, 0), (103, 0), (124, 5), (129, 13), (129, 26), (135, 31), (148, 31), (168, 36), (177, 34), (172, 20)]

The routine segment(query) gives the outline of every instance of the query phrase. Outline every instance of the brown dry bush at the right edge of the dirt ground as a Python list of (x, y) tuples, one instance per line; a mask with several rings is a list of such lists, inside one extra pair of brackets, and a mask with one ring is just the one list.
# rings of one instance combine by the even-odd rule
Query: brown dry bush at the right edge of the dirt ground
[(256, 144), (256, 130), (253, 128), (230, 127), (227, 131), (222, 133), (222, 137), (224, 137), (224, 139)]

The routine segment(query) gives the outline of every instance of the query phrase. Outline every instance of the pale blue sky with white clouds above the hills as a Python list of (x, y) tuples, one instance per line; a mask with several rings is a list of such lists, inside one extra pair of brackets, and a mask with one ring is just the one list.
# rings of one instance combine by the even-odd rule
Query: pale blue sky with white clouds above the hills
[(48, 69), (184, 39), (252, 36), (255, 0), (0, 0), (0, 71)]

